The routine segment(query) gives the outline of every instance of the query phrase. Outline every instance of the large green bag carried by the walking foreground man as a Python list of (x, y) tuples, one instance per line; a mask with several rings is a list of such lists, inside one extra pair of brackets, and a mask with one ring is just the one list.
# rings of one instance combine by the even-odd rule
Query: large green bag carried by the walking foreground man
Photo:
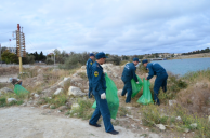
[[(118, 108), (119, 108), (119, 98), (117, 96), (117, 86), (115, 82), (105, 73), (106, 80), (106, 100), (108, 102), (108, 109), (110, 111), (110, 118), (116, 119)], [(96, 108), (96, 101), (93, 104), (92, 108)]]

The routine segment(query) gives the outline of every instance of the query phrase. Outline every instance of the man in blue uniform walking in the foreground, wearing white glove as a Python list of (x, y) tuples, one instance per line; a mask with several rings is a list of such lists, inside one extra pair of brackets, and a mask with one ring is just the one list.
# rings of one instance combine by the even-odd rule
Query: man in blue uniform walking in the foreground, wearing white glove
[(106, 55), (101, 52), (96, 54), (96, 61), (92, 66), (92, 86), (93, 95), (96, 100), (96, 108), (89, 122), (89, 125), (101, 127), (97, 124), (100, 116), (102, 115), (106, 133), (117, 135), (110, 122), (110, 112), (106, 100), (106, 80), (101, 65), (105, 63)]

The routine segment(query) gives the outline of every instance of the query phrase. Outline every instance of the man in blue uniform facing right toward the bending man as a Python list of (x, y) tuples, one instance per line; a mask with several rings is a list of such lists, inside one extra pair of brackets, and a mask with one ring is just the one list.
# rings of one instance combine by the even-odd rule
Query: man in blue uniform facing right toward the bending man
[(134, 79), (134, 81), (137, 82), (137, 77), (135, 74), (136, 65), (139, 64), (139, 58), (133, 58), (133, 63), (127, 64), (124, 66), (121, 80), (124, 83), (123, 91), (121, 93), (121, 96), (124, 96), (127, 94), (126, 104), (131, 102), (131, 95), (132, 95), (132, 86), (131, 86), (131, 80)]

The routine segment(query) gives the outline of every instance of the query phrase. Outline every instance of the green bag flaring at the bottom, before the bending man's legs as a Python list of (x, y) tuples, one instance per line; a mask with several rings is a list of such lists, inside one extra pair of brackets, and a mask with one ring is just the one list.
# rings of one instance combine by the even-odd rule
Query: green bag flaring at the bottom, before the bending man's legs
[(142, 104), (142, 105), (154, 104), (153, 102), (153, 97), (152, 97), (152, 94), (150, 94), (150, 89), (149, 89), (150, 82), (145, 80), (145, 79), (143, 79), (143, 81), (144, 81), (144, 84), (143, 84), (143, 95), (140, 97), (137, 102)]

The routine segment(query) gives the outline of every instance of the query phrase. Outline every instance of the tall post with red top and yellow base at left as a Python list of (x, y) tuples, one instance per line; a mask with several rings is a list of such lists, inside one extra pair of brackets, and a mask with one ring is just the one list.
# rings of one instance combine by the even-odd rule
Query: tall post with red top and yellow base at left
[(23, 73), (23, 63), (22, 57), (26, 57), (26, 47), (25, 47), (25, 34), (23, 33), (23, 27), (21, 31), (21, 26), (17, 24), (16, 32), (16, 54), (19, 58), (19, 73)]

